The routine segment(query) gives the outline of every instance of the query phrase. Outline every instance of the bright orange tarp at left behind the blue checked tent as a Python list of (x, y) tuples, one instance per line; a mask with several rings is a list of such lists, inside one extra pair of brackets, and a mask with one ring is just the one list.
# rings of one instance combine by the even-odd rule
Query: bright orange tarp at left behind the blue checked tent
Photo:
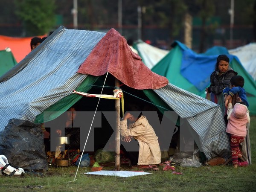
[[(45, 36), (45, 35), (44, 35)], [(44, 37), (38, 36), (38, 37)], [(0, 35), (0, 50), (9, 47), (16, 61), (19, 63), (31, 51), (30, 41), (33, 37), (13, 38)]]

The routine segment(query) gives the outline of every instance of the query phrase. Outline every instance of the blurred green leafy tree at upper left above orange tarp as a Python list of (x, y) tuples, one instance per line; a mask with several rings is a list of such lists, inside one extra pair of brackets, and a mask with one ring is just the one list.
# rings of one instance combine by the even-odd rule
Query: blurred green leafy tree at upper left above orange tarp
[(16, 0), (15, 5), (26, 35), (44, 35), (55, 25), (55, 0)]

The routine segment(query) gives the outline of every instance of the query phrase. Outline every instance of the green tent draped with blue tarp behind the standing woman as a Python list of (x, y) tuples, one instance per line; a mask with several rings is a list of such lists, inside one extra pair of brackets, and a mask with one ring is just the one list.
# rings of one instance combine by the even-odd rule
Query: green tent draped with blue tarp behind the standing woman
[(226, 54), (230, 67), (244, 77), (250, 114), (256, 114), (256, 82), (244, 69), (235, 55), (230, 55), (225, 47), (212, 47), (203, 54), (193, 52), (179, 41), (172, 44), (171, 51), (151, 70), (165, 76), (170, 83), (196, 95), (205, 97), (205, 88), (210, 84), (210, 74), (215, 69), (216, 58)]

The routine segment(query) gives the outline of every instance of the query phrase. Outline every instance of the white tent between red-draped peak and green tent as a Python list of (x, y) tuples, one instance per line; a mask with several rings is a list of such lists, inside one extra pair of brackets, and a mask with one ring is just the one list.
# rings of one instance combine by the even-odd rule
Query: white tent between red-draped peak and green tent
[(142, 40), (137, 41), (134, 44), (135, 49), (139, 52), (143, 63), (151, 69), (157, 64), (169, 51), (159, 49), (150, 44), (143, 42)]

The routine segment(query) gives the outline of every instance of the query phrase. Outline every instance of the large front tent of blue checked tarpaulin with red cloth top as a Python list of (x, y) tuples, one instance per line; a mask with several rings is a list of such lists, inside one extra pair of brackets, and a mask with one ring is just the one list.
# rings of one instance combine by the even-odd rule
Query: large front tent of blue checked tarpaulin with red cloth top
[[(102, 33), (61, 26), (1, 76), (0, 135), (9, 119), (38, 124), (55, 119), (81, 101), (81, 96), (73, 94), (73, 90), (100, 93), (106, 82), (103, 93), (113, 94), (115, 78), (124, 84), (124, 98), (150, 104), (162, 117), (167, 116), (172, 121), (172, 116), (165, 112), (174, 111), (179, 116), (175, 124), (181, 130), (184, 127), (181, 122), (187, 123), (183, 131), (193, 136), (207, 159), (230, 157), (230, 144), (220, 107), (151, 72), (114, 29)], [(95, 98), (85, 98), (84, 103), (84, 110), (96, 110)], [(99, 105), (99, 110), (115, 111), (112, 101), (102, 101)], [(47, 111), (56, 113), (45, 116)], [(160, 126), (154, 126), (154, 129), (157, 132)], [(165, 135), (172, 139), (172, 133)], [(101, 137), (107, 137), (107, 134), (102, 133)]]

